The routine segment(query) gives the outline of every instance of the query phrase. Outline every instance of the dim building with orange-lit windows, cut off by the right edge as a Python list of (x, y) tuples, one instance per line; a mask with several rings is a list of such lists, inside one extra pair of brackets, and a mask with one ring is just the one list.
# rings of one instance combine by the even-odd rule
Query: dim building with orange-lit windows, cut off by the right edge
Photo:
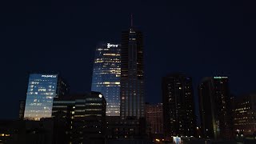
[(245, 136), (256, 134), (256, 94), (235, 98), (234, 130)]

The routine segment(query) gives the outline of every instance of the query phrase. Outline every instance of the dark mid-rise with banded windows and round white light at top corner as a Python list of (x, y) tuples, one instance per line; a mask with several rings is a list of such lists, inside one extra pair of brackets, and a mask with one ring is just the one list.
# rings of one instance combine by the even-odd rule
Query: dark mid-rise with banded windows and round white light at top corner
[(99, 92), (54, 98), (53, 118), (66, 123), (70, 143), (103, 143), (106, 131), (106, 100)]

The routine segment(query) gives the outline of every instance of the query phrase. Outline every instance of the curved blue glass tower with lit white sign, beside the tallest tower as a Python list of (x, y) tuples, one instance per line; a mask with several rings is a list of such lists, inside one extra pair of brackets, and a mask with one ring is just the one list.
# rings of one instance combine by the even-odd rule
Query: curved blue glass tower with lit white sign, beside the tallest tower
[(92, 91), (106, 98), (106, 115), (120, 116), (121, 45), (101, 43), (96, 47)]

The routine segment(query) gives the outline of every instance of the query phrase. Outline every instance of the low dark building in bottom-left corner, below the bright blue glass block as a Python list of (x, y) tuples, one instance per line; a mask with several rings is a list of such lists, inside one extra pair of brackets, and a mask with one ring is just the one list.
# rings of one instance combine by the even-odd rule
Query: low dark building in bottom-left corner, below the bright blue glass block
[(64, 133), (57, 134), (52, 118), (41, 121), (0, 121), (2, 144), (58, 144), (65, 143)]

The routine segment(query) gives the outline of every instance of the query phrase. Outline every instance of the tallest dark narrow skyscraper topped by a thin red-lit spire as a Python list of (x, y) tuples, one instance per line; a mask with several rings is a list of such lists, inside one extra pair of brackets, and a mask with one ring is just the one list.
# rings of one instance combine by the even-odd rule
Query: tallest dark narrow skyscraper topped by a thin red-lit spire
[(122, 31), (121, 117), (142, 118), (144, 112), (143, 35), (131, 26)]

